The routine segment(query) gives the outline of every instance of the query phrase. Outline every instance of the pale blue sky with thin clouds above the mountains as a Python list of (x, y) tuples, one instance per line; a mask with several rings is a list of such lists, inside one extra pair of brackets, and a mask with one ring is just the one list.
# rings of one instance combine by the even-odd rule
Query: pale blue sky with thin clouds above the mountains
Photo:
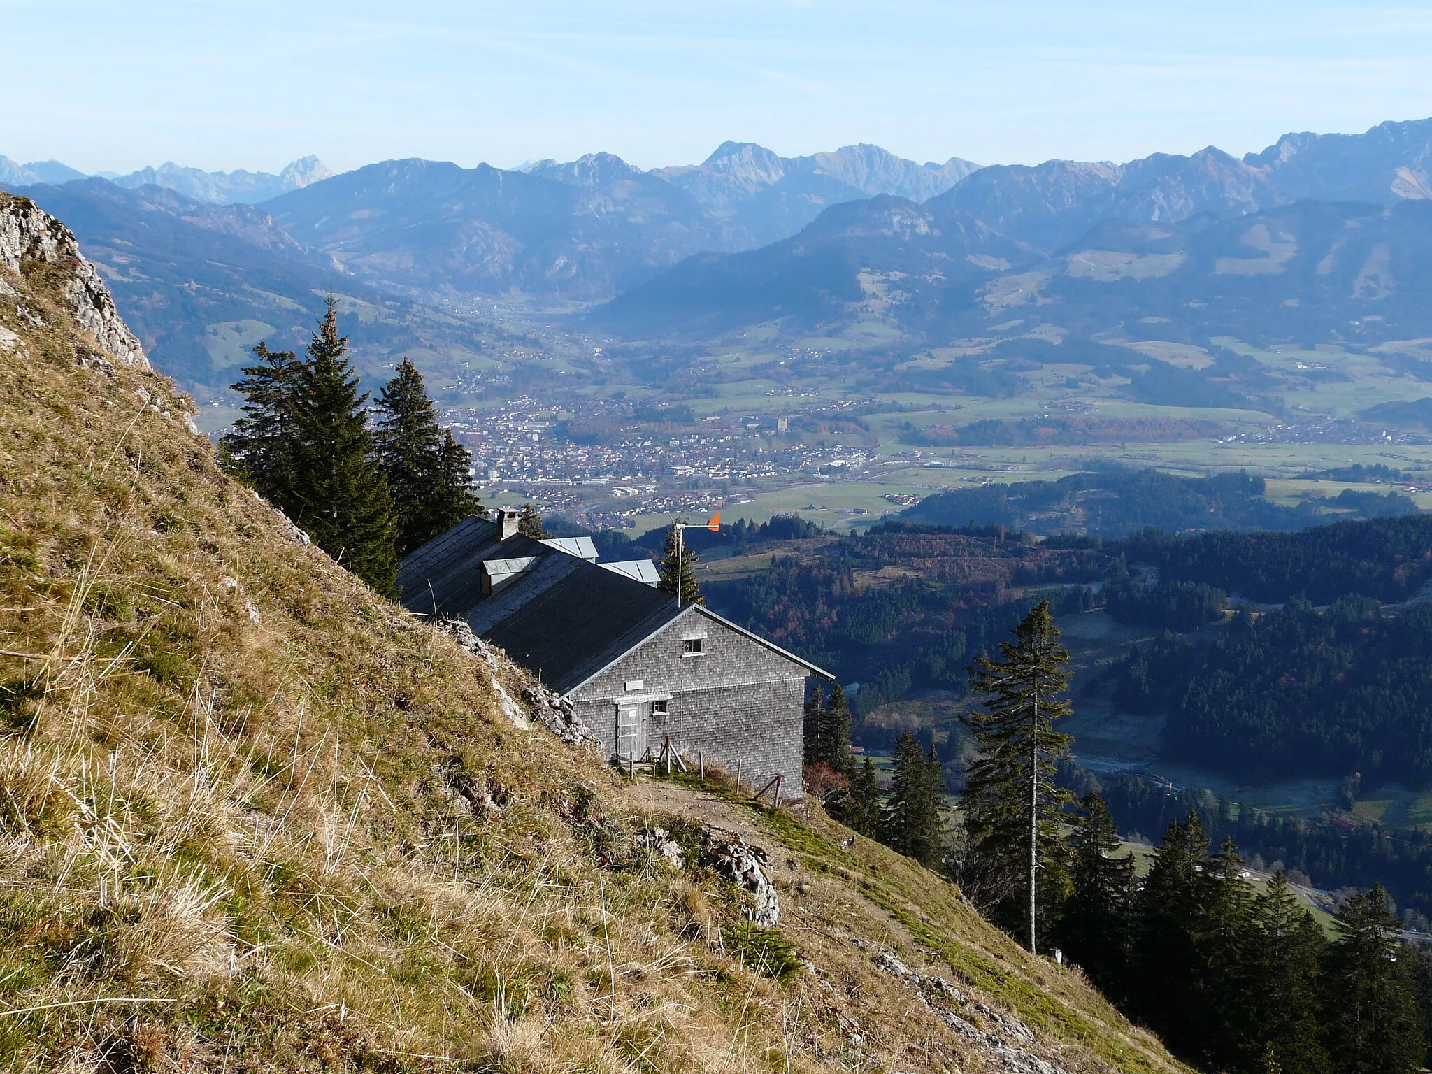
[(0, 153), (1126, 160), (1432, 116), (1432, 4), (0, 0)]

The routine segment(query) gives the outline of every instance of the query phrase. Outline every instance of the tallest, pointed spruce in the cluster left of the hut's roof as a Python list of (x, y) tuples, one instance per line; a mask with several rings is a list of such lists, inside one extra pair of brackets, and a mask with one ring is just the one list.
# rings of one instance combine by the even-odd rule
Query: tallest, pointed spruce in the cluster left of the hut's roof
[(318, 547), (384, 594), (398, 569), (392, 497), (372, 451), (368, 395), (345, 357), (338, 309), (328, 311), (308, 345), (309, 361), (298, 378), (294, 410), (298, 427), (295, 521)]

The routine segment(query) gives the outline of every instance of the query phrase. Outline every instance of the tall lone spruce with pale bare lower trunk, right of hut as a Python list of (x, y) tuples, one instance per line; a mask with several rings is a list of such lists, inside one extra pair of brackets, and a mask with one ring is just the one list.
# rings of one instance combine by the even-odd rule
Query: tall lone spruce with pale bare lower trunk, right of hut
[[(1030, 610), (1014, 636), (1000, 644), (1000, 660), (981, 657), (972, 669), (984, 709), (961, 717), (979, 748), (964, 796), (965, 831), (972, 853), (985, 861), (1010, 866), (1022, 861), (1027, 935), (1030, 951), (1037, 951), (1041, 879), (1051, 909), (1067, 892), (1060, 811), (1070, 795), (1055, 783), (1055, 762), (1071, 739), (1054, 725), (1070, 713), (1063, 696), (1070, 683), (1068, 653), (1060, 646), (1047, 600)], [(1011, 911), (1001, 914), (1008, 925)]]

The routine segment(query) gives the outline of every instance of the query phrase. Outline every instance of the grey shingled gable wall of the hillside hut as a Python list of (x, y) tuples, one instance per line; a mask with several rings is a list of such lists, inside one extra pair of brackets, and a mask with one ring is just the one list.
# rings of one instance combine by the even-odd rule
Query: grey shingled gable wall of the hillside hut
[[(683, 656), (682, 642), (695, 636), (703, 637), (705, 654)], [(756, 789), (779, 773), (789, 799), (800, 796), (805, 679), (800, 664), (693, 609), (570, 697), (609, 753), (616, 749), (617, 702), (649, 709), (653, 699), (670, 697), (667, 716), (649, 717), (653, 750), (670, 736), (689, 759), (705, 753), (707, 763), (732, 773), (739, 760), (742, 782)], [(627, 690), (636, 680), (642, 687)]]

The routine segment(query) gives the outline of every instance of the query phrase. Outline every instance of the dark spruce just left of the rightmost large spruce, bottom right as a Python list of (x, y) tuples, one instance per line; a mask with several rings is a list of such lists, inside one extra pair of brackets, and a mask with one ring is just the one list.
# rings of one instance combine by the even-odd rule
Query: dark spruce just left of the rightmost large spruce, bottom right
[(1326, 1074), (1317, 990), (1327, 941), (1282, 869), (1253, 901), (1253, 928), (1257, 942), (1247, 987), (1249, 1022), (1259, 1038), (1253, 1060), (1263, 1070)]

